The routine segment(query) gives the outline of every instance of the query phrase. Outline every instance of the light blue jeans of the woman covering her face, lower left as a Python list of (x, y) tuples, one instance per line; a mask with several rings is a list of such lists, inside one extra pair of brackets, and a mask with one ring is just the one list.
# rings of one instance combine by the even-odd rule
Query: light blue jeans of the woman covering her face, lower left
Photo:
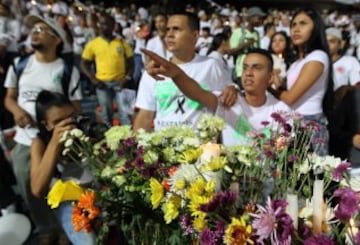
[(54, 209), (55, 215), (64, 229), (67, 237), (73, 245), (95, 245), (96, 237), (93, 232), (86, 233), (85, 231), (74, 231), (74, 226), (71, 222), (72, 216), (72, 202), (62, 202), (60, 206)]

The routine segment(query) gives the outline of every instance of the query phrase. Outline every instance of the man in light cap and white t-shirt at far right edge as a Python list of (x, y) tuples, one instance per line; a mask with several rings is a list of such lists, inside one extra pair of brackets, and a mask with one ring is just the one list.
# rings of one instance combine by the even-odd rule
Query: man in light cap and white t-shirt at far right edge
[(331, 27), (326, 29), (331, 61), (333, 63), (334, 90), (343, 85), (355, 85), (360, 82), (360, 63), (353, 57), (341, 55), (341, 31)]

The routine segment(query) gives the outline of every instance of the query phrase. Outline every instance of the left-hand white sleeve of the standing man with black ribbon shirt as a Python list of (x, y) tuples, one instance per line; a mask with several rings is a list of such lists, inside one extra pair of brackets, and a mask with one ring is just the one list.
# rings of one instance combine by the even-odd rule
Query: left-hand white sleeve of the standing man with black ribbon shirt
[(146, 71), (143, 73), (136, 97), (136, 107), (156, 111), (155, 82), (156, 81)]

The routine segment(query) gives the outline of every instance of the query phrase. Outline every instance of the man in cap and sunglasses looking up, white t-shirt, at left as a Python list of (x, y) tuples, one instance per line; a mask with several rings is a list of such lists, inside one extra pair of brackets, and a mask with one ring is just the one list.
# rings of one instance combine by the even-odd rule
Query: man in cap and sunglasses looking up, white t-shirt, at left
[(79, 72), (74, 67), (69, 74), (68, 91), (75, 92), (64, 91), (62, 76), (67, 66), (60, 58), (65, 40), (64, 30), (54, 19), (35, 15), (27, 16), (25, 24), (31, 28), (31, 46), (34, 53), (26, 57), (28, 60), (20, 75), (17, 73), (17, 68), (22, 58), (16, 58), (5, 79), (7, 88), (5, 106), (13, 114), (16, 124), (14, 140), (17, 144), (12, 151), (13, 169), (20, 194), (30, 210), (39, 238), (44, 238), (40, 243), (54, 244), (53, 239), (56, 236), (49, 235), (52, 234), (50, 231), (55, 228), (56, 223), (52, 212), (45, 199), (34, 197), (29, 188), (30, 145), (38, 133), (34, 123), (35, 100), (42, 90), (68, 93), (68, 98), (80, 109), (81, 93), (80, 89), (76, 89)]

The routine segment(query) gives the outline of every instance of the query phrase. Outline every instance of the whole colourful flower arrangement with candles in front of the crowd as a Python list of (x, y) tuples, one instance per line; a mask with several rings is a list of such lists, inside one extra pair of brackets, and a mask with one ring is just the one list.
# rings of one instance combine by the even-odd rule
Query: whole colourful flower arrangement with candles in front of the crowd
[(252, 145), (231, 147), (215, 143), (224, 123), (209, 115), (196, 131), (67, 134), (77, 145), (63, 154), (81, 152), (96, 184), (74, 204), (75, 228), (96, 229), (99, 243), (112, 225), (130, 244), (359, 244), (350, 164), (314, 153), (315, 123), (272, 117), (276, 130), (264, 122)]

